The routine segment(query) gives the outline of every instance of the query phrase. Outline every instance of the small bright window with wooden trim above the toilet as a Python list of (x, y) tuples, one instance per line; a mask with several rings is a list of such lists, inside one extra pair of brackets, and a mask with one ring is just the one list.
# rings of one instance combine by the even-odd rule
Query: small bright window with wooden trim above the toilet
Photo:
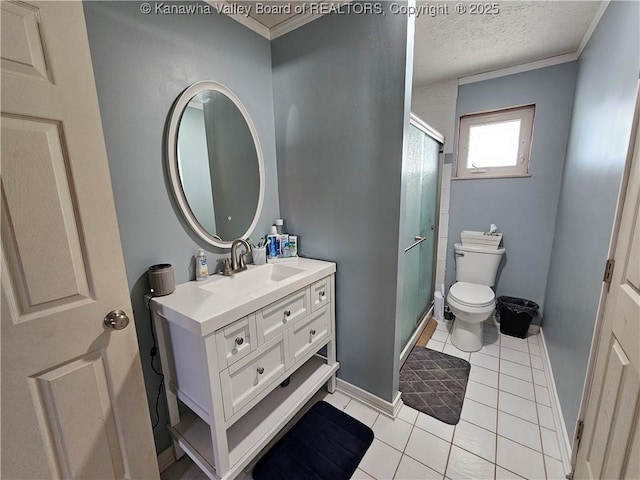
[(457, 178), (529, 174), (535, 105), (460, 117)]

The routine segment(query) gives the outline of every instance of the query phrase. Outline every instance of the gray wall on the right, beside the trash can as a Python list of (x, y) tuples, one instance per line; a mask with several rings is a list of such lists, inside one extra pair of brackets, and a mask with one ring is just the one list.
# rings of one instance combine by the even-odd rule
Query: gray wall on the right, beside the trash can
[(640, 4), (609, 4), (579, 60), (544, 334), (569, 435), (587, 370), (638, 83)]

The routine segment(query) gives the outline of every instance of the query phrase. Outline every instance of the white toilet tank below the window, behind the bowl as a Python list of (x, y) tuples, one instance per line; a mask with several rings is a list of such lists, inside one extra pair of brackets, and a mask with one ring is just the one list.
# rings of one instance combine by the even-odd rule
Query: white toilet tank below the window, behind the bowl
[(453, 246), (456, 258), (456, 281), (478, 283), (493, 287), (504, 248), (485, 248), (478, 245)]

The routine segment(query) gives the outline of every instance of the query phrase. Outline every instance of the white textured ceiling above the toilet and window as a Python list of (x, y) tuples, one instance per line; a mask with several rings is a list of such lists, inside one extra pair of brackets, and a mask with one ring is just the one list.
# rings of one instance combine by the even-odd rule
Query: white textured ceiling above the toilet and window
[[(416, 87), (574, 53), (601, 2), (501, 1), (496, 15), (472, 15), (471, 2), (418, 5), (427, 3), (449, 13), (416, 19)], [(466, 13), (456, 13), (458, 3)]]

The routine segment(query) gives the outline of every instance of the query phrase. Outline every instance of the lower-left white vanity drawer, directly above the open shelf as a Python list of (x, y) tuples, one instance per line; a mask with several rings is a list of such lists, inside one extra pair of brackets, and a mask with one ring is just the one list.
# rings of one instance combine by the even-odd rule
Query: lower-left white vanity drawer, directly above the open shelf
[(279, 335), (220, 372), (225, 419), (229, 419), (285, 370), (285, 342)]

